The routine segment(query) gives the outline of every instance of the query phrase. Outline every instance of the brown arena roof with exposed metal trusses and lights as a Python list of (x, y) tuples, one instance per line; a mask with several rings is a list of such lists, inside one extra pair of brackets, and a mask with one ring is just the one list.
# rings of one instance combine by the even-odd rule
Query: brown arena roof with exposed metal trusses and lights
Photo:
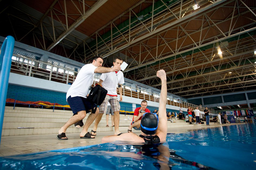
[[(1, 36), (185, 98), (256, 89), (255, 0), (2, 0)], [(152, 17), (153, 16), (153, 17)]]

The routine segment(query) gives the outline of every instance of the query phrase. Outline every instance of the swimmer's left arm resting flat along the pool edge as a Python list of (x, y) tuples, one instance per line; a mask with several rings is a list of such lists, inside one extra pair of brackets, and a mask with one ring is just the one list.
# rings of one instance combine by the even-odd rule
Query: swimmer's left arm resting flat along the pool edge
[(102, 143), (114, 142), (114, 141), (127, 141), (127, 142), (144, 142), (144, 140), (134, 133), (123, 133), (120, 136), (111, 135), (104, 136)]

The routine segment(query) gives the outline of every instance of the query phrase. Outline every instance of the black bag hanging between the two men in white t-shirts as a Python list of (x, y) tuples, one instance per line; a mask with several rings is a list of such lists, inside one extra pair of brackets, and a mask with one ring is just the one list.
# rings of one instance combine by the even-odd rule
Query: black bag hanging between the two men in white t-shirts
[[(87, 99), (92, 104), (92, 113), (96, 112), (97, 106), (102, 104), (107, 93), (108, 91), (105, 88), (102, 88), (102, 86), (99, 84), (96, 84), (95, 87), (90, 91), (90, 94), (87, 97)], [(96, 104), (95, 108), (93, 108), (93, 104)]]

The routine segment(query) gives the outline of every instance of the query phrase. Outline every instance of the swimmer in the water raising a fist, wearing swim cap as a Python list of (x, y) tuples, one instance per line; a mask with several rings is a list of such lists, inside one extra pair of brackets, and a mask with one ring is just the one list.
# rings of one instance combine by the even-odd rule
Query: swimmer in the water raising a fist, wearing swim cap
[(102, 142), (128, 141), (128, 142), (145, 142), (159, 143), (166, 141), (167, 135), (167, 118), (166, 118), (166, 100), (167, 85), (166, 73), (164, 70), (157, 71), (157, 77), (161, 79), (162, 87), (159, 99), (159, 117), (154, 113), (145, 113), (141, 119), (141, 135), (135, 133), (124, 133), (120, 136), (105, 136)]

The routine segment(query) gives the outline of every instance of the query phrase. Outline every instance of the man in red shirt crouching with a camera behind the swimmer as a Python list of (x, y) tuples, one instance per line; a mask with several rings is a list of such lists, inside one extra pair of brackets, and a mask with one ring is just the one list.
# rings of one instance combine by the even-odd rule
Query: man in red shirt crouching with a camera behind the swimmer
[(148, 102), (146, 100), (143, 100), (140, 105), (141, 107), (136, 108), (134, 111), (134, 117), (132, 119), (131, 125), (128, 127), (128, 133), (132, 132), (132, 128), (135, 130), (140, 130), (140, 120), (142, 119), (143, 114), (150, 113), (150, 111), (147, 109)]

